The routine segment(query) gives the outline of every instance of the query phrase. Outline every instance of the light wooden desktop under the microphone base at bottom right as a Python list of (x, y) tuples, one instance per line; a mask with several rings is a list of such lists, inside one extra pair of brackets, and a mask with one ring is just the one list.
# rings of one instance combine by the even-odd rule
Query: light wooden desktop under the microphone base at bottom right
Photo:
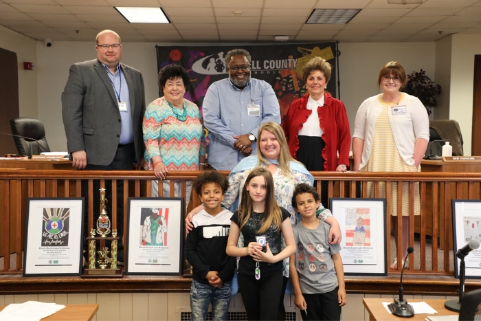
[[(407, 303), (410, 302), (426, 302), (429, 306), (431, 306), (433, 309), (438, 311), (436, 313), (436, 316), (454, 316), (455, 314), (458, 314), (453, 311), (449, 311), (448, 309), (445, 309), (445, 301), (446, 300), (422, 300), (422, 299), (411, 299), (407, 300)], [(370, 321), (376, 321), (376, 320), (419, 320), (419, 321), (425, 321), (426, 316), (428, 314), (415, 314), (413, 318), (399, 318), (394, 316), (394, 314), (391, 314), (388, 312), (388, 310), (385, 309), (385, 307), (382, 305), (382, 302), (392, 302), (392, 299), (388, 298), (363, 298), (362, 303), (364, 307), (366, 307), (366, 310), (369, 312), (369, 320)]]

